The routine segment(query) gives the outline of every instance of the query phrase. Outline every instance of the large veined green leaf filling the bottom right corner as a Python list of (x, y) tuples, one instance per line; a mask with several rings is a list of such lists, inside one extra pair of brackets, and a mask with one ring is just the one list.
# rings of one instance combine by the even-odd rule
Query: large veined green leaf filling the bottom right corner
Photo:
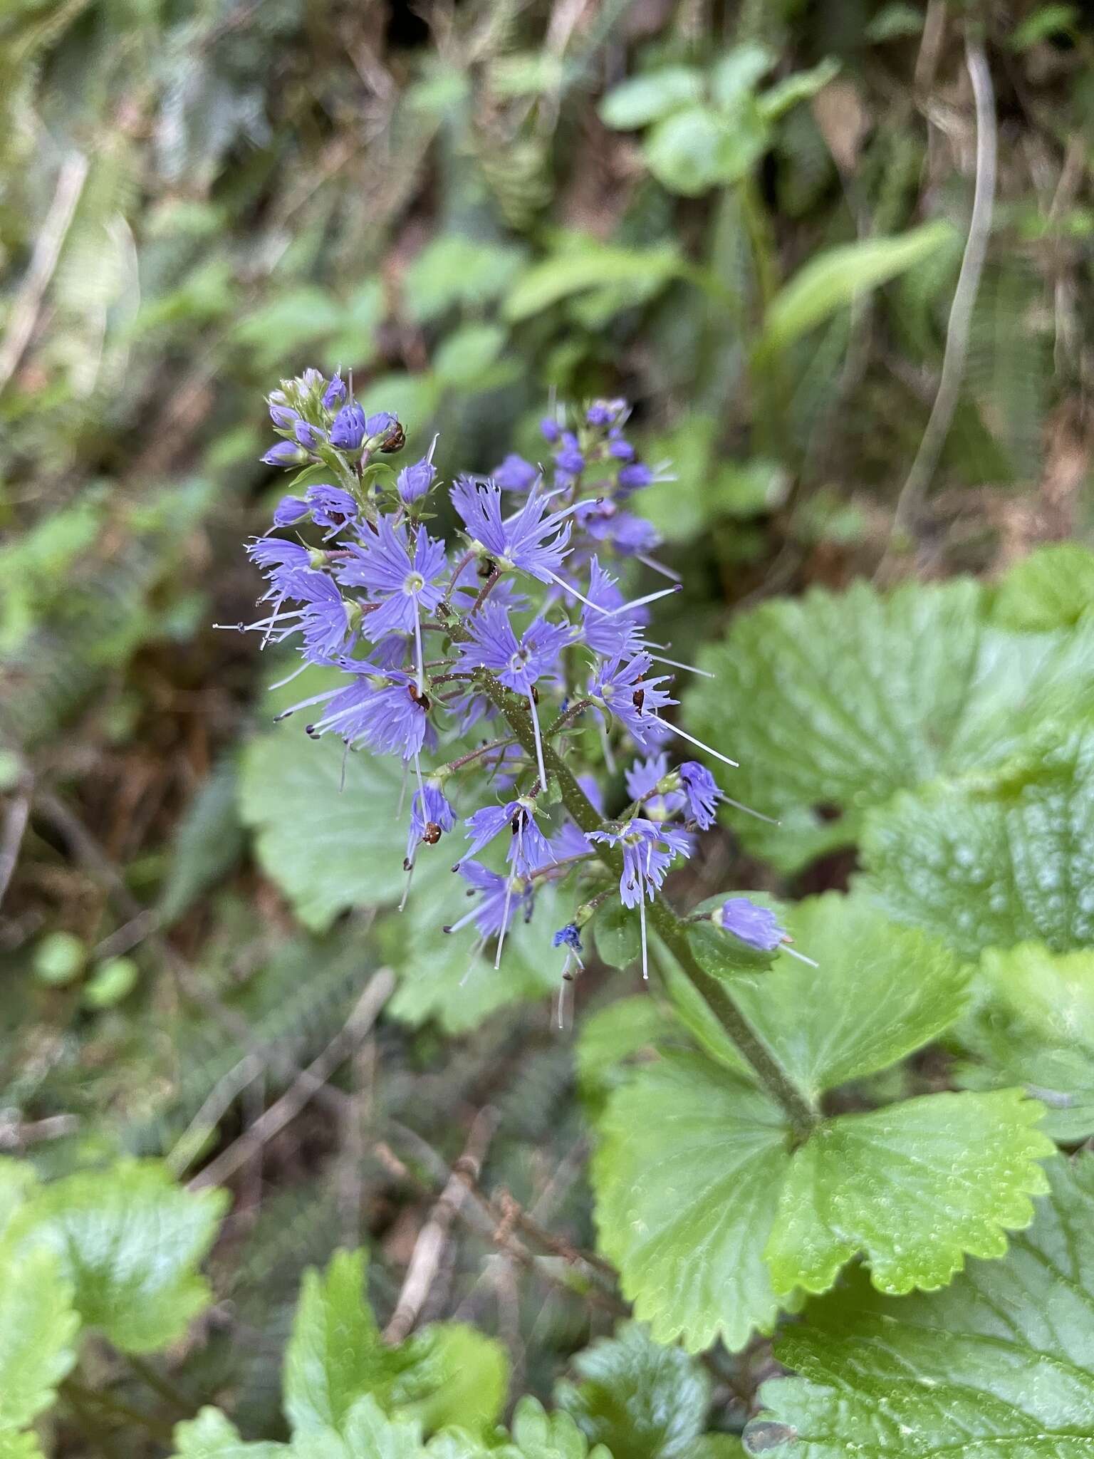
[(1005, 1261), (893, 1300), (865, 1282), (776, 1342), (745, 1446), (777, 1459), (1084, 1459), (1094, 1444), (1094, 1156), (1053, 1160)]

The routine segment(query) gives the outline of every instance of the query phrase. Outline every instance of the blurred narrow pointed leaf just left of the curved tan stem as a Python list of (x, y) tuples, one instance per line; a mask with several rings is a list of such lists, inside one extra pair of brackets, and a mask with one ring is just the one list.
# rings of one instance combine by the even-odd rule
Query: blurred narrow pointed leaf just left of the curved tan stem
[(856, 295), (920, 263), (950, 236), (950, 223), (939, 220), (897, 238), (864, 238), (815, 254), (767, 306), (757, 356), (780, 353)]

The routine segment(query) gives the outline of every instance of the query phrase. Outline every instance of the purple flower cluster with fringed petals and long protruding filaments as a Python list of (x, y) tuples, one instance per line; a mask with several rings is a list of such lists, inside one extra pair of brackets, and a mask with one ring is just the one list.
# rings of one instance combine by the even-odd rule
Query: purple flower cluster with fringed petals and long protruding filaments
[[(448, 931), (473, 922), (476, 951), (496, 941), (494, 966), (540, 887), (572, 878), (578, 912), (554, 935), (569, 976), (572, 963), (582, 966), (581, 928), (617, 874), (623, 905), (639, 912), (645, 973), (646, 900), (726, 797), (703, 765), (672, 767), (665, 748), (672, 735), (699, 741), (664, 716), (677, 700), (659, 668), (687, 665), (646, 638), (649, 604), (680, 584), (652, 556), (656, 530), (633, 509), (643, 487), (667, 477), (627, 438), (626, 403), (547, 417), (543, 464), (506, 455), (487, 477), (457, 477), (448, 503), (435, 500), (436, 441), (395, 470), (401, 422), (366, 414), (338, 375), (306, 371), (268, 406), (280, 439), (263, 461), (298, 474), (270, 533), (247, 547), (267, 582), (263, 616), (235, 626), (295, 645), (302, 668), (335, 674), (286, 713), (314, 709), (309, 735), (398, 756), (413, 772), (408, 874), (423, 846), (455, 832), (454, 778), (465, 775), (489, 800), (464, 807), (467, 845), (454, 871), (473, 906)], [(458, 519), (452, 544), (427, 525), (446, 506)], [(623, 579), (636, 563), (672, 581), (627, 600)], [(468, 735), (478, 740), (470, 750)], [(608, 769), (616, 750), (637, 751), (618, 817), (604, 816), (595, 779), (575, 783), (573, 751), (589, 744)]]

